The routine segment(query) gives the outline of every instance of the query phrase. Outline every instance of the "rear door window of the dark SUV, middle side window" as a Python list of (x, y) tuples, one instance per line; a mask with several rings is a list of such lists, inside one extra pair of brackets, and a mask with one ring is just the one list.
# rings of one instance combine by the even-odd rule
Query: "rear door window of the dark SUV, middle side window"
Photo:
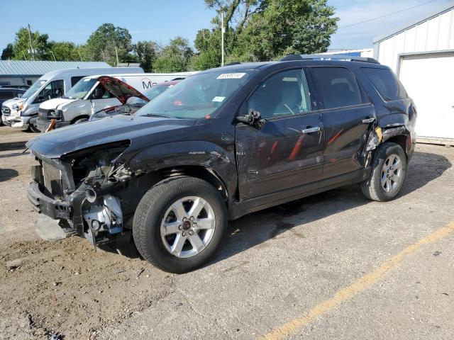
[(343, 67), (315, 67), (312, 69), (325, 108), (341, 108), (362, 103), (358, 83), (353, 74)]

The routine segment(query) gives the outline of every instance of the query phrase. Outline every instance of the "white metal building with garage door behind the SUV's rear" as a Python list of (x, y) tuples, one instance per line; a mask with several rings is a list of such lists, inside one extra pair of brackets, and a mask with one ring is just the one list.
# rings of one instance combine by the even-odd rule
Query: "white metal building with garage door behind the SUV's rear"
[(454, 145), (454, 1), (375, 38), (374, 57), (415, 101), (418, 136)]

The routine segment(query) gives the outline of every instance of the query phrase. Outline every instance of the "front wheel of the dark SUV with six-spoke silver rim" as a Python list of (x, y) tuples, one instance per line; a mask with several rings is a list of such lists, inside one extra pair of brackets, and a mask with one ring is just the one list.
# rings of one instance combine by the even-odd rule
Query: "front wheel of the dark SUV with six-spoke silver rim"
[(227, 229), (226, 204), (206, 181), (181, 176), (157, 183), (140, 200), (134, 242), (163, 271), (185, 273), (211, 259)]

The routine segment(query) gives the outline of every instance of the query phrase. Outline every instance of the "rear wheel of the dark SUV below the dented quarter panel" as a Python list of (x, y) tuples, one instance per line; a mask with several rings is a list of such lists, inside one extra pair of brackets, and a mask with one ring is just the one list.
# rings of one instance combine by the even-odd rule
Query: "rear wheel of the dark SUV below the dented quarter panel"
[(404, 185), (406, 165), (402, 147), (396, 143), (384, 142), (375, 151), (370, 179), (361, 183), (364, 196), (379, 202), (394, 199)]

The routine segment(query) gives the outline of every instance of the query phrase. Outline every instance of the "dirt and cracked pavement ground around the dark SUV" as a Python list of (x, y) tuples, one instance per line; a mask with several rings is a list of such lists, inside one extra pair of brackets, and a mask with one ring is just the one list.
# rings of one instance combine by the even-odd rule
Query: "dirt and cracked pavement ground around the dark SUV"
[[(454, 220), (454, 148), (418, 145), (397, 200), (348, 186), (256, 212), (229, 223), (207, 266), (170, 275), (77, 237), (38, 239), (17, 144), (30, 137), (0, 127), (0, 339), (256, 339)], [(453, 339), (453, 239), (287, 336)]]

